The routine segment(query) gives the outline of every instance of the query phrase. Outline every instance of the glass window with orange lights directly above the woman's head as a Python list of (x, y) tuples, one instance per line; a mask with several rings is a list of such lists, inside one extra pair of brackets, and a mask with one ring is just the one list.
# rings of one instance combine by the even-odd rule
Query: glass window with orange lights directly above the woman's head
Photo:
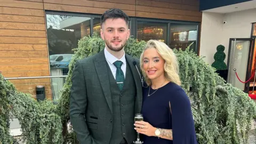
[(137, 27), (138, 41), (149, 41), (150, 39), (157, 39), (166, 43), (167, 23), (138, 21)]

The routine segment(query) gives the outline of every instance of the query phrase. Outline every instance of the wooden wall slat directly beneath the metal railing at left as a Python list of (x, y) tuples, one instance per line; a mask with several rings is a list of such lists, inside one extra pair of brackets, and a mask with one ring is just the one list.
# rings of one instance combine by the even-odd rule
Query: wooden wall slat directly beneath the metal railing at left
[(50, 78), (10, 79), (13, 84), (50, 83)]

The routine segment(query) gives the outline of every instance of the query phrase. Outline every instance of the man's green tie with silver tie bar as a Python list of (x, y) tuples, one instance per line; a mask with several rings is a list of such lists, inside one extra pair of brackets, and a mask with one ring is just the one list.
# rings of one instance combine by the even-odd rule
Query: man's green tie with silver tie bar
[(116, 82), (120, 90), (123, 90), (124, 86), (124, 73), (121, 69), (123, 62), (122, 61), (115, 61), (114, 65), (116, 66)]

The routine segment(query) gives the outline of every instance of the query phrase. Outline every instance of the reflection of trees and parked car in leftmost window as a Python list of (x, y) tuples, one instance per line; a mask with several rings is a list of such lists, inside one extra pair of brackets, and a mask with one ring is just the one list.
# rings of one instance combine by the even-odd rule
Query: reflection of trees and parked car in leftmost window
[(46, 20), (50, 67), (58, 68), (64, 59), (59, 56), (73, 54), (72, 49), (78, 46), (78, 40), (90, 35), (91, 18), (46, 14)]

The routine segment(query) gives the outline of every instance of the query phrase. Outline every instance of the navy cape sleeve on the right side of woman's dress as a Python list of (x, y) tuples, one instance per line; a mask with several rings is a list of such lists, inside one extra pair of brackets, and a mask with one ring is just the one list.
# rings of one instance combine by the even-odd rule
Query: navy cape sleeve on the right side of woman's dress
[(196, 144), (195, 124), (190, 100), (183, 90), (170, 97), (172, 113), (173, 144)]

